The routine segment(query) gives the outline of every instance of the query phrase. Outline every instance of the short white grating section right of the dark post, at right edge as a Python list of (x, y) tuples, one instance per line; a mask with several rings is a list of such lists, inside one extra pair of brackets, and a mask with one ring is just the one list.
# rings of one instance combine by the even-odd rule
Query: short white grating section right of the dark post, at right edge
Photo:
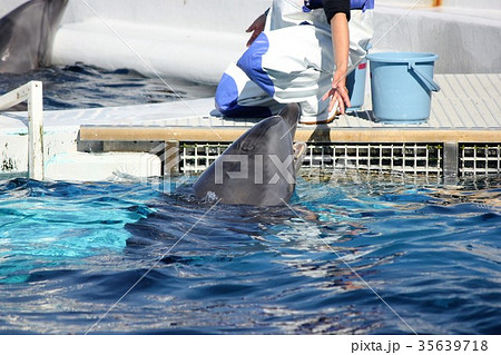
[(500, 175), (501, 145), (460, 145), (460, 175)]

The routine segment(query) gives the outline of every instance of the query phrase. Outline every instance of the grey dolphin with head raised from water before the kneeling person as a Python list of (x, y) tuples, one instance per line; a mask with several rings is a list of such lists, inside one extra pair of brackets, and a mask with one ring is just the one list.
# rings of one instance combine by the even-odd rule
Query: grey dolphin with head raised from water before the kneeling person
[(247, 130), (195, 181), (195, 195), (227, 205), (287, 204), (306, 151), (304, 142), (294, 144), (299, 115), (299, 106), (288, 103)]

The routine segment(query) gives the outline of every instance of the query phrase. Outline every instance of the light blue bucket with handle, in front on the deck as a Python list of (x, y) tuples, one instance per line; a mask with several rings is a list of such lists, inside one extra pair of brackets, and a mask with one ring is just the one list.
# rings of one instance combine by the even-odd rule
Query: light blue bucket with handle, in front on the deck
[(372, 109), (376, 120), (389, 124), (421, 124), (430, 117), (431, 92), (439, 56), (416, 52), (369, 55)]

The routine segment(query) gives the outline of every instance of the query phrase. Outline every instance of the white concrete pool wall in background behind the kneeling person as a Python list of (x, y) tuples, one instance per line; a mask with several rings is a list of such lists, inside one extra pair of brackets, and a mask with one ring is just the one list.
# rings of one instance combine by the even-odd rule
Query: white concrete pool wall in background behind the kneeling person
[[(3, 0), (0, 16), (23, 2)], [(55, 39), (53, 62), (129, 68), (214, 85), (245, 50), (246, 28), (271, 0), (147, 4), (70, 0)], [(501, 72), (500, 1), (376, 0), (375, 4), (375, 51), (435, 52), (441, 58), (438, 73)]]

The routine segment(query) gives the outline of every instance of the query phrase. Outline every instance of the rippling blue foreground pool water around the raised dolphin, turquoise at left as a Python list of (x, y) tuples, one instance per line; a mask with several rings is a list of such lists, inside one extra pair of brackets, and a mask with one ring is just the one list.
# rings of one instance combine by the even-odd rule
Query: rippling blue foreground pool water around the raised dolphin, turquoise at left
[(160, 187), (0, 181), (0, 333), (501, 333), (499, 178), (305, 178), (292, 209)]

